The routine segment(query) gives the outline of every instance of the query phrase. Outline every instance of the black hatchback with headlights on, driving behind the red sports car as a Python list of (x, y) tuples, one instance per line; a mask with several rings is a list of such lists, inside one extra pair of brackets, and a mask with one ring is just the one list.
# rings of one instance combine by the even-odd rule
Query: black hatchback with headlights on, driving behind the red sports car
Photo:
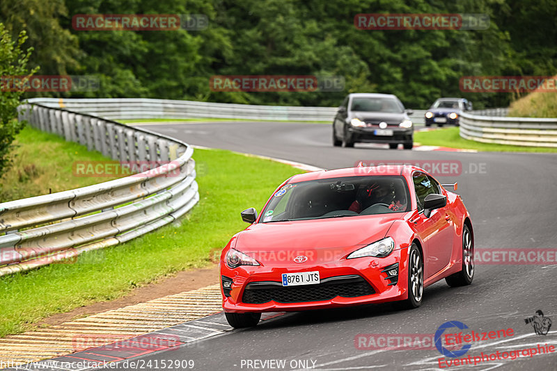
[(391, 149), (414, 146), (414, 125), (393, 94), (348, 94), (333, 122), (333, 145), (354, 147), (356, 142), (386, 143)]

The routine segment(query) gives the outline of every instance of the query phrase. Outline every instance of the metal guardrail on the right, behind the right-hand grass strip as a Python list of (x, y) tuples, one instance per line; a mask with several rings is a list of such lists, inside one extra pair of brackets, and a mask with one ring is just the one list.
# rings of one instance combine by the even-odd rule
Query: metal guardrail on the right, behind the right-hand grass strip
[(557, 119), (496, 117), (506, 114), (485, 110), (487, 115), (462, 113), (460, 136), (476, 142), (526, 147), (557, 147)]

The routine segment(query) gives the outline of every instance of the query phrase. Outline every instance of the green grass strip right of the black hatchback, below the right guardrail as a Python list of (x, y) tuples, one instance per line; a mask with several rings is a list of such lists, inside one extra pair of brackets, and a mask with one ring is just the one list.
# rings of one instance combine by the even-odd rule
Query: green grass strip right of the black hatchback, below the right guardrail
[(414, 142), (420, 145), (476, 149), (486, 152), (557, 152), (557, 148), (496, 145), (467, 140), (459, 135), (459, 128), (451, 127), (432, 131), (416, 131)]

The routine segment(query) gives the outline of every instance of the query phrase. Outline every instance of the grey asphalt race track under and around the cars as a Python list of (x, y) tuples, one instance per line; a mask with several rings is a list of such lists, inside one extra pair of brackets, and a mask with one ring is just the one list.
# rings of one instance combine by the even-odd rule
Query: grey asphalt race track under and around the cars
[[(451, 161), (460, 174), (437, 176), (457, 181), (472, 215), (476, 250), (555, 249), (557, 240), (557, 156), (554, 154), (465, 153), (389, 150), (331, 144), (331, 126), (277, 122), (219, 122), (142, 126), (191, 145), (231, 149), (334, 169), (359, 160), (410, 163)], [(217, 172), (219, 169), (206, 169)], [(269, 190), (269, 193), (272, 190)], [(258, 210), (262, 205), (249, 205)], [(238, 210), (240, 217), (240, 210)], [(357, 349), (364, 334), (432, 334), (444, 322), (463, 322), (476, 332), (512, 328), (514, 336), (473, 343), (465, 355), (509, 352), (538, 344), (557, 347), (557, 265), (479, 265), (473, 284), (449, 288), (444, 281), (425, 289), (421, 308), (400, 311), (391, 304), (329, 311), (288, 313), (258, 327), (229, 331), (196, 346), (144, 356), (145, 361), (194, 360), (194, 370), (439, 370), (432, 349)], [(536, 335), (524, 318), (542, 310), (554, 326)], [(285, 361), (284, 367), (269, 360)], [(250, 362), (251, 361), (251, 362)], [(270, 366), (270, 367), (269, 367)], [(453, 366), (450, 370), (469, 369)], [(557, 352), (515, 360), (478, 363), (473, 370), (556, 370)]]

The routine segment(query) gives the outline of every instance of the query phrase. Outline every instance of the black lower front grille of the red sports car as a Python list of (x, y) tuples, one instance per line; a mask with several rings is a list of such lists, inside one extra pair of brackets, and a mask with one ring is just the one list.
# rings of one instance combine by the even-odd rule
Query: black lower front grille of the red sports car
[(244, 290), (246, 304), (321, 302), (335, 297), (359, 297), (375, 294), (368, 281), (358, 275), (330, 277), (316, 285), (282, 286), (280, 282), (253, 282)]

